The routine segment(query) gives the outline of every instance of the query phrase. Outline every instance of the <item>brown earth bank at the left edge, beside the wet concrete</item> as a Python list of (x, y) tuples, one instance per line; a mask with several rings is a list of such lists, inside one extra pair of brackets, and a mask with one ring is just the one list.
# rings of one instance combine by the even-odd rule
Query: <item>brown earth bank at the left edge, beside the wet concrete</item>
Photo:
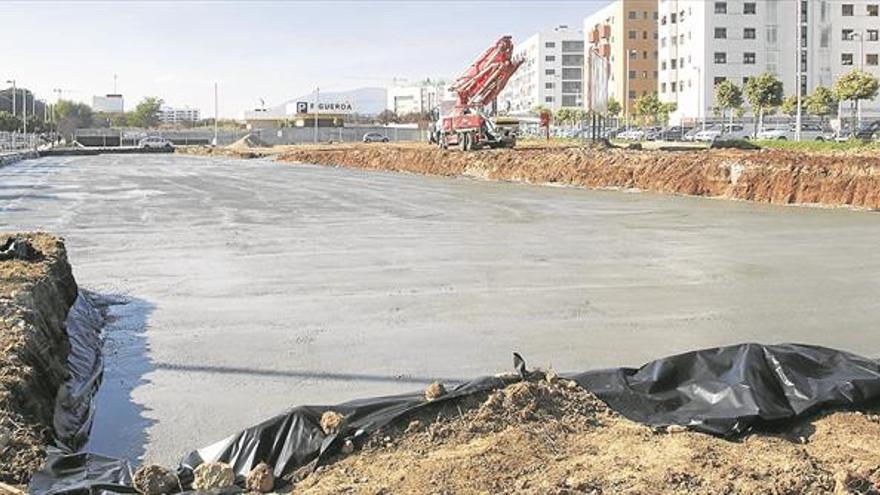
[[(6, 259), (12, 238), (30, 246), (26, 256)], [(60, 239), (0, 234), (0, 482), (26, 483), (45, 458), (68, 377), (64, 322), (76, 296)]]

